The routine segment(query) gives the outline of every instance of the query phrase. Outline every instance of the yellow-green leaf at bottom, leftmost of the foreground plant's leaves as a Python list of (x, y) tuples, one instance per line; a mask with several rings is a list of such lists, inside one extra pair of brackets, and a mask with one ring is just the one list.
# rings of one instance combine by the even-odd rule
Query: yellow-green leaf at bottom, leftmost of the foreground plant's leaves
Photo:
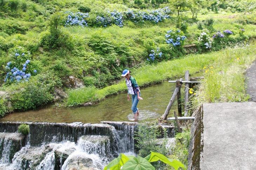
[(109, 162), (104, 170), (120, 170), (123, 164), (134, 157), (135, 156), (125, 156), (124, 154), (120, 154), (119, 157)]

